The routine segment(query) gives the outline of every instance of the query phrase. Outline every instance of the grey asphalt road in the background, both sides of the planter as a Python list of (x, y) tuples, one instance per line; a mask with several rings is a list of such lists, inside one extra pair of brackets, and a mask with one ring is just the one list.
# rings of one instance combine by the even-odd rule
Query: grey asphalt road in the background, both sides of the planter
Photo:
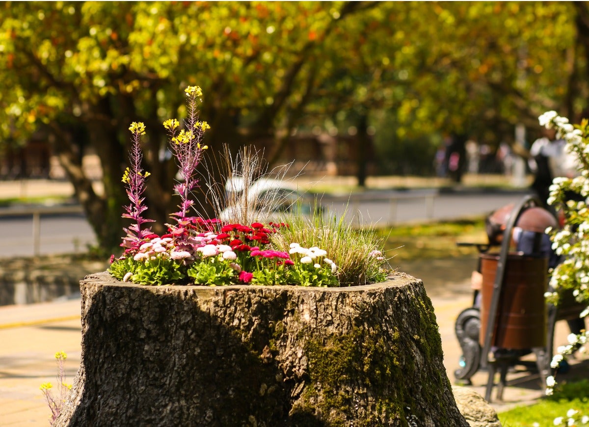
[[(517, 191), (437, 194), (432, 190), (382, 190), (354, 196), (349, 201), (346, 197), (325, 197), (323, 201), (333, 214), (345, 214), (353, 224), (394, 226), (408, 221), (477, 216), (517, 202), (523, 196), (523, 192)], [(32, 216), (0, 218), (0, 257), (32, 256), (32, 230)], [(40, 230), (39, 254), (74, 253), (96, 241), (82, 214), (41, 216)]]

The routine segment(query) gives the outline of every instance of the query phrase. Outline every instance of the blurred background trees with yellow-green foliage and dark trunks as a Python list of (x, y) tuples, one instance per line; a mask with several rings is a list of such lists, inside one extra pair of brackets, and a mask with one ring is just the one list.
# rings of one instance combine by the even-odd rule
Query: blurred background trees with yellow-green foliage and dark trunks
[[(351, 138), (383, 173), (426, 174), (442, 135), (497, 147), (587, 107), (585, 2), (4, 2), (2, 144), (43, 131), (102, 247), (120, 242), (128, 125), (147, 125), (150, 216), (177, 203), (161, 122), (204, 91), (207, 144), (287, 160), (293, 135)], [(532, 135), (533, 136), (533, 135)], [(533, 139), (533, 138), (532, 138)], [(338, 140), (338, 141), (343, 141)], [(81, 155), (100, 158), (104, 194)], [(290, 151), (287, 152), (287, 149)], [(294, 149), (296, 153), (296, 148)], [(462, 156), (464, 158), (464, 156)]]

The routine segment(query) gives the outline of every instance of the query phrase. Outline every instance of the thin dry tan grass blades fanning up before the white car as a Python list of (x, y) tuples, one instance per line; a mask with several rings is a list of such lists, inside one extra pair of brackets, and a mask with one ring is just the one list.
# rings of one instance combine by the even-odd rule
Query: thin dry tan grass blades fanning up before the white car
[[(272, 188), (292, 188), (294, 192), (296, 187), (292, 181), (299, 174), (286, 178), (292, 163), (269, 170), (263, 153), (251, 146), (242, 147), (235, 158), (227, 145), (223, 148), (220, 158), (207, 164), (207, 173), (203, 176), (216, 217), (240, 224), (266, 220), (255, 217), (255, 213), (270, 214), (284, 203), (284, 193), (272, 191)], [(210, 177), (214, 176), (211, 168), (220, 170), (221, 176), (227, 177), (226, 183), (211, 182)], [(263, 188), (269, 191), (262, 191)]]

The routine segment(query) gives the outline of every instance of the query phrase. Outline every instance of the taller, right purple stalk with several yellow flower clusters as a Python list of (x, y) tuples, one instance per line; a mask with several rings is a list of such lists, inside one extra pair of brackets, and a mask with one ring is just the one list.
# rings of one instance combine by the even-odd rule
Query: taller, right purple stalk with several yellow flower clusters
[(197, 104), (203, 95), (200, 87), (188, 86), (184, 92), (187, 96), (188, 116), (184, 120), (184, 129), (179, 130), (180, 123), (176, 119), (164, 121), (164, 127), (170, 135), (170, 148), (178, 164), (181, 181), (174, 186), (180, 196), (179, 211), (171, 214), (178, 221), (178, 225), (186, 226), (192, 217), (189, 211), (194, 206), (191, 193), (198, 187), (197, 167), (203, 157), (203, 151), (208, 147), (201, 145), (204, 131), (210, 129), (206, 121), (198, 121)]

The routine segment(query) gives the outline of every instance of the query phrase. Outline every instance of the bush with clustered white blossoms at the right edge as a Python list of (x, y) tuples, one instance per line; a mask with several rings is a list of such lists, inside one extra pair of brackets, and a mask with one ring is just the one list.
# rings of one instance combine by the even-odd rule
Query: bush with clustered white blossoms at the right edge
[[(555, 111), (548, 111), (539, 118), (540, 124), (548, 129), (555, 129), (557, 138), (565, 141), (564, 150), (573, 155), (578, 174), (574, 177), (556, 177), (550, 186), (547, 202), (561, 216), (562, 229), (549, 230), (552, 249), (562, 257), (562, 262), (554, 268), (550, 285), (552, 292), (546, 294), (550, 302), (558, 304), (558, 297), (570, 290), (578, 302), (589, 302), (589, 121), (584, 119), (578, 125), (570, 124), (566, 117), (560, 117)], [(581, 317), (589, 314), (589, 307), (583, 310)], [(556, 369), (562, 360), (579, 350), (584, 352), (587, 343), (587, 331), (580, 335), (571, 333), (568, 344), (557, 349), (557, 355), (551, 362)], [(552, 395), (557, 385), (554, 376), (547, 378), (546, 394)], [(578, 411), (571, 409), (566, 417), (554, 419), (554, 425), (579, 425), (589, 421)], [(577, 424), (575, 424), (577, 423)]]

